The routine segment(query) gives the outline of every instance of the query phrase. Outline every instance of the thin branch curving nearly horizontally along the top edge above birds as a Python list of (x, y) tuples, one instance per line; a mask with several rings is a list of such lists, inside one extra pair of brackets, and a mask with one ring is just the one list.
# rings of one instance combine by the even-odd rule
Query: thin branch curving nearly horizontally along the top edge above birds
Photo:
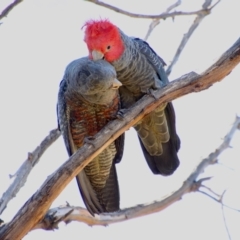
[(137, 14), (137, 13), (131, 13), (128, 11), (125, 11), (123, 9), (120, 9), (118, 7), (115, 7), (113, 5), (101, 2), (99, 0), (85, 0), (87, 2), (91, 2), (94, 4), (97, 4), (99, 6), (108, 8), (110, 10), (113, 10), (117, 13), (121, 13), (124, 14), (126, 16), (129, 17), (133, 17), (133, 18), (144, 18), (144, 19), (166, 19), (166, 18), (172, 18), (172, 17), (176, 17), (176, 16), (190, 16), (190, 15), (199, 15), (199, 14), (205, 14), (205, 12), (209, 12), (210, 9), (200, 9), (198, 11), (192, 11), (192, 12), (181, 12), (181, 11), (175, 11), (175, 12), (171, 12), (171, 13), (161, 13), (161, 14), (156, 14), (156, 15), (146, 15), (146, 14)]

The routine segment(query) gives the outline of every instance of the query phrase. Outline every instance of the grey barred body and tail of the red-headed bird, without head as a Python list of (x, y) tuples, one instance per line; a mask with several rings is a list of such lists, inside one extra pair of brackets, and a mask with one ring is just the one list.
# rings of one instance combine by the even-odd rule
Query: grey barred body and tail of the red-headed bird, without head
[[(122, 106), (130, 107), (149, 90), (168, 83), (164, 61), (143, 40), (130, 38), (121, 32), (127, 46), (121, 58), (112, 64), (122, 82)], [(165, 103), (135, 125), (145, 159), (155, 174), (170, 175), (179, 166), (177, 152), (180, 139), (176, 133), (172, 103)]]

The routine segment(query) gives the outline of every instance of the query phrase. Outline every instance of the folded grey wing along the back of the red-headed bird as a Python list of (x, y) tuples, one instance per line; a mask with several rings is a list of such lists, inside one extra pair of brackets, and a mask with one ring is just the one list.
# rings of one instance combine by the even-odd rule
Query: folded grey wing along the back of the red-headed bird
[(140, 38), (134, 38), (133, 40), (137, 43), (140, 52), (146, 56), (149, 63), (153, 66), (154, 70), (159, 76), (159, 79), (163, 83), (163, 86), (169, 83), (168, 76), (164, 69), (166, 63), (163, 61), (163, 59), (157, 55), (157, 53), (149, 46), (147, 42)]

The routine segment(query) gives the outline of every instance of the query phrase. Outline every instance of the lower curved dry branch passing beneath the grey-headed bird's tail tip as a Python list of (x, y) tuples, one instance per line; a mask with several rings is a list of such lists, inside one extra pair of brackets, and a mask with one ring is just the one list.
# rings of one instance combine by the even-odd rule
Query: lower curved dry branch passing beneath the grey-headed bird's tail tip
[[(236, 117), (236, 120), (231, 130), (225, 136), (223, 143), (213, 153), (209, 154), (207, 158), (203, 159), (202, 162), (200, 162), (196, 169), (183, 183), (183, 185), (170, 196), (165, 197), (159, 201), (154, 201), (150, 204), (141, 204), (136, 207), (123, 209), (115, 213), (95, 215), (95, 217), (93, 217), (86, 209), (81, 207), (61, 206), (50, 209), (44, 219), (38, 223), (34, 229), (54, 229), (58, 227), (58, 223), (61, 221), (64, 221), (65, 223), (69, 223), (71, 221), (79, 221), (90, 226), (106, 226), (109, 224), (127, 221), (133, 218), (162, 211), (163, 209), (169, 207), (171, 204), (180, 200), (184, 194), (198, 191), (199, 187), (202, 187), (202, 182), (208, 180), (209, 178), (199, 179), (198, 181), (196, 181), (196, 179), (206, 167), (215, 164), (217, 162), (218, 156), (230, 146), (230, 141), (236, 130), (238, 130), (239, 124), (240, 117)], [(223, 194), (220, 197), (221, 199), (219, 199), (218, 202), (222, 204), (223, 208), (223, 206), (225, 206), (222, 202)]]

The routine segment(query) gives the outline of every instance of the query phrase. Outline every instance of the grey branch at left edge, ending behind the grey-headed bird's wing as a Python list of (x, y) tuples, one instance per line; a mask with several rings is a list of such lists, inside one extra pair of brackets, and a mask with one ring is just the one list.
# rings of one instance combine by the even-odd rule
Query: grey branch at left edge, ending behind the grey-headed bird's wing
[(27, 181), (27, 177), (33, 167), (39, 162), (40, 157), (47, 150), (47, 148), (55, 142), (60, 136), (58, 129), (52, 130), (48, 136), (46, 136), (40, 145), (32, 152), (28, 153), (28, 158), (22, 164), (22, 166), (17, 170), (14, 175), (10, 177), (15, 177), (13, 183), (9, 186), (7, 191), (3, 193), (0, 199), (0, 214), (7, 207), (8, 202), (16, 196), (18, 191)]

